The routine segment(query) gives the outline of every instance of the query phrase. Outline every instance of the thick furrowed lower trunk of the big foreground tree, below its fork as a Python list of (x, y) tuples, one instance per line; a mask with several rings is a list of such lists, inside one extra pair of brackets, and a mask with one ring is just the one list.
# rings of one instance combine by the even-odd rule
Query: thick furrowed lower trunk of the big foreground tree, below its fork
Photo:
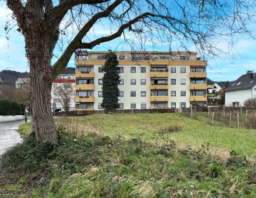
[(57, 131), (50, 105), (52, 82), (46, 81), (43, 73), (39, 70), (38, 67), (31, 65), (31, 62), (30, 83), (32, 92), (31, 102), (33, 109), (32, 133), (35, 133), (37, 141), (47, 141), (53, 144), (57, 144)]

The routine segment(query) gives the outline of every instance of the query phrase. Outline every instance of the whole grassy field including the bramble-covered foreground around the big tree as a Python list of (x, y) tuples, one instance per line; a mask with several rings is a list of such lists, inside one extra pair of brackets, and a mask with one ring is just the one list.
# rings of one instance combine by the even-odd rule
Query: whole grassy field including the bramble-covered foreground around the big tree
[(38, 144), (31, 123), (20, 126), (24, 142), (2, 159), (0, 197), (256, 197), (255, 162), (244, 156), (255, 156), (255, 130), (180, 114), (62, 117), (56, 124), (58, 146)]

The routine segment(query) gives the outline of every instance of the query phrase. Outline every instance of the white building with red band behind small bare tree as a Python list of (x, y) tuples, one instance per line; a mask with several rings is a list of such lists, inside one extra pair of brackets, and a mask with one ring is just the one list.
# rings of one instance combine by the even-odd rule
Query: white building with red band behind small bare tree
[(52, 104), (55, 102), (57, 107), (57, 112), (64, 111), (64, 107), (59, 100), (59, 96), (54, 91), (57, 87), (62, 86), (64, 83), (70, 83), (72, 87), (74, 87), (74, 92), (71, 94), (70, 97), (70, 106), (69, 111), (75, 110), (75, 74), (60, 74), (52, 83), (52, 90), (51, 90), (51, 107)]

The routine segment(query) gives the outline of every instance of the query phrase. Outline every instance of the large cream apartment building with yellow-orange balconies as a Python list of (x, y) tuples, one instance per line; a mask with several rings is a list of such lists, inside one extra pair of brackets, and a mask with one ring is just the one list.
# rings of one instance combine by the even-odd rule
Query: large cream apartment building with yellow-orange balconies
[[(108, 51), (75, 52), (79, 110), (102, 110), (104, 55)], [(207, 102), (206, 62), (187, 52), (116, 51), (120, 72), (119, 109), (183, 108)]]

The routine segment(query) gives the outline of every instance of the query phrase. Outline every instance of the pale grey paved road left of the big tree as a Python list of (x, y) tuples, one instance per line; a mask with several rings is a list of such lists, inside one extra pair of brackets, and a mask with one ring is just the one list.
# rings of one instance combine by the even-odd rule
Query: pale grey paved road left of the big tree
[[(30, 118), (27, 121), (30, 121)], [(0, 155), (22, 142), (17, 129), (23, 123), (25, 123), (25, 120), (0, 123)]]

